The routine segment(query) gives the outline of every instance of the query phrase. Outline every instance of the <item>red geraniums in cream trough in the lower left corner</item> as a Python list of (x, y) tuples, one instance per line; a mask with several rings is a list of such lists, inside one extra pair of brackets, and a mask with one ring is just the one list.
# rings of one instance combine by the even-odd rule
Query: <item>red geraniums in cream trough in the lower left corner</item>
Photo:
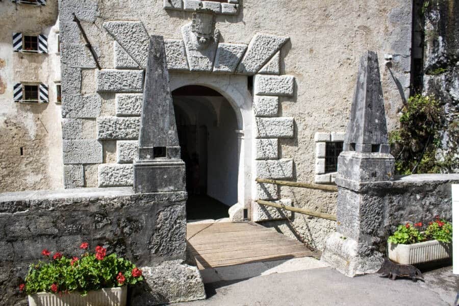
[(19, 290), (28, 294), (30, 306), (124, 306), (127, 286), (143, 280), (142, 271), (129, 260), (107, 255), (107, 249), (88, 251), (88, 243), (80, 246), (81, 257), (65, 257), (60, 252), (44, 249), (45, 261), (31, 264)]

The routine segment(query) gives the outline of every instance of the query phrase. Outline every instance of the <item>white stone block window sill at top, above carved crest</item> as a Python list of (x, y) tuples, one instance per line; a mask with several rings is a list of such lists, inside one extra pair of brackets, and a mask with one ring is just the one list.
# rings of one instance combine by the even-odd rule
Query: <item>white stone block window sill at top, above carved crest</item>
[(194, 12), (197, 9), (210, 9), (216, 14), (237, 15), (240, 10), (240, 0), (163, 0), (163, 8), (187, 12)]

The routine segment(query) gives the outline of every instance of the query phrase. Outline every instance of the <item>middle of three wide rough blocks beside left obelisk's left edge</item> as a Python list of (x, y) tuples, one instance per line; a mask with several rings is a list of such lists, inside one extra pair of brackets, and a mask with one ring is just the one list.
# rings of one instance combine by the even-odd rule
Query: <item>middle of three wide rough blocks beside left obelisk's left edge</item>
[(140, 117), (98, 117), (97, 139), (138, 139)]

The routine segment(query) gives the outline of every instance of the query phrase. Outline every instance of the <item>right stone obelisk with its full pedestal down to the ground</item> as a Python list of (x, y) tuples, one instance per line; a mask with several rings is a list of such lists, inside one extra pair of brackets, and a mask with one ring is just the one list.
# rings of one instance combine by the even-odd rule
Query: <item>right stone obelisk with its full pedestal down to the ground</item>
[(384, 203), (368, 191), (394, 179), (377, 55), (361, 60), (344, 147), (338, 157), (337, 226), (322, 260), (347, 276), (373, 273), (382, 261), (378, 244)]

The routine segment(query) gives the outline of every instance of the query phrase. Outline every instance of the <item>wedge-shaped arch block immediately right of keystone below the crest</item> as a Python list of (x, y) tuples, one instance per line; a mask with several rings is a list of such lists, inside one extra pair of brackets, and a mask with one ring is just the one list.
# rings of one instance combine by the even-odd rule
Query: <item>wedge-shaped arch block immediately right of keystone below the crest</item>
[(233, 73), (246, 49), (245, 44), (219, 43), (215, 55), (214, 72)]

